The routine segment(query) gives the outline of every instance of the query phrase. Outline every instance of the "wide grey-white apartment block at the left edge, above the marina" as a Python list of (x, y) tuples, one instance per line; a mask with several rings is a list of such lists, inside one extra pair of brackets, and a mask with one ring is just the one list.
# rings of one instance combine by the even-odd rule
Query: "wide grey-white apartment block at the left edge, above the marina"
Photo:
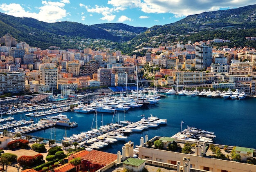
[(25, 73), (9, 72), (0, 73), (0, 94), (25, 91)]

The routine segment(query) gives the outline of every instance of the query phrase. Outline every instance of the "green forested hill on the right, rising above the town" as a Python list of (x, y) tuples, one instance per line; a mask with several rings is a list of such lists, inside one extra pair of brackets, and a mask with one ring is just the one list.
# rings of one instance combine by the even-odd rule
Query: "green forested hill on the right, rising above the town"
[[(236, 9), (204, 12), (163, 26), (153, 26), (144, 34), (130, 41), (130, 49), (135, 47), (166, 44), (187, 40), (201, 41), (223, 38), (231, 40), (227, 46), (256, 47), (255, 41), (247, 41), (246, 36), (256, 36), (256, 4)], [(222, 45), (222, 44), (219, 44)]]

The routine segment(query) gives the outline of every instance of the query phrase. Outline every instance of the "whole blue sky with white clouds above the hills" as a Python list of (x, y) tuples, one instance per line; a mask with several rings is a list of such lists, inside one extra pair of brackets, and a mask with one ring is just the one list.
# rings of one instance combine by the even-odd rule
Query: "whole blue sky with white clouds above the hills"
[(43, 22), (153, 27), (191, 14), (255, 4), (254, 0), (0, 0), (0, 12)]

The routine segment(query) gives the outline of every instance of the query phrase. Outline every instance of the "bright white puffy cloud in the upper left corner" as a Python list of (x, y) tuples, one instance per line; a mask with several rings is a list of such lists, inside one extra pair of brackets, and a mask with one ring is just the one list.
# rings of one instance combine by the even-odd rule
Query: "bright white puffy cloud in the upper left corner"
[(20, 4), (1, 4), (0, 9), (6, 14), (16, 17), (31, 17), (44, 22), (56, 22), (69, 15), (64, 9), (65, 3), (69, 0), (62, 0), (61, 2), (42, 1), (43, 6), (38, 7), (38, 13), (31, 13), (26, 11)]

